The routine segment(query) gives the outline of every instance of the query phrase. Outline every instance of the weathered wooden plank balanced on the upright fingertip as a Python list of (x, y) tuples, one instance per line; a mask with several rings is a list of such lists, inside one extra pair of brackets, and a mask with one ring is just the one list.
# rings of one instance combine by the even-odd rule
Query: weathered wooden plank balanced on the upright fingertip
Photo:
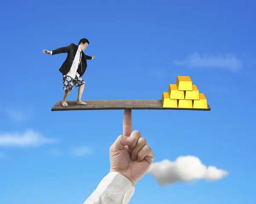
[(211, 110), (208, 109), (184, 109), (184, 108), (163, 108), (161, 100), (92, 100), (84, 101), (88, 105), (76, 105), (76, 101), (67, 101), (68, 107), (62, 107), (61, 101), (58, 101), (52, 111), (67, 111), (67, 110), (120, 110), (120, 109), (164, 109), (164, 110)]

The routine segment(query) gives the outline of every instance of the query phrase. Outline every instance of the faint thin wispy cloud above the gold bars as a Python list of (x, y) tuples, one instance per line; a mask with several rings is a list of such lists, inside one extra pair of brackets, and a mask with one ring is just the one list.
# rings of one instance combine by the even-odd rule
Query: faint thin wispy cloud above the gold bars
[(228, 69), (232, 72), (238, 71), (243, 66), (241, 60), (231, 54), (222, 56), (201, 56), (197, 52), (189, 55), (185, 60), (174, 60), (173, 63), (176, 65), (188, 66), (189, 68), (220, 68)]

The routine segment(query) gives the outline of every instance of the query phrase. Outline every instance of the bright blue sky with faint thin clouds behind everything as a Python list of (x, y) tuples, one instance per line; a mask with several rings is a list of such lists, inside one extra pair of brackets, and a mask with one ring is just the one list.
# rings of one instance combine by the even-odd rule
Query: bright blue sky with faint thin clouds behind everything
[(87, 61), (83, 100), (161, 99), (177, 75), (189, 75), (212, 108), (133, 110), (133, 129), (147, 139), (155, 162), (192, 155), (228, 175), (163, 187), (147, 174), (131, 204), (253, 204), (255, 6), (249, 0), (3, 3), (1, 204), (82, 204), (109, 171), (123, 111), (51, 112), (63, 97), (58, 69), (67, 55), (42, 50), (84, 37), (85, 53), (96, 59)]

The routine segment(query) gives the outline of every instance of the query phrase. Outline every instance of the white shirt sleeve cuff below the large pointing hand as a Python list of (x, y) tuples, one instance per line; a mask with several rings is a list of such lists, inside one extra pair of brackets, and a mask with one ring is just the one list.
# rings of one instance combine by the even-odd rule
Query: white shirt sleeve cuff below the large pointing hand
[(128, 204), (134, 190), (128, 178), (118, 172), (109, 172), (84, 204)]

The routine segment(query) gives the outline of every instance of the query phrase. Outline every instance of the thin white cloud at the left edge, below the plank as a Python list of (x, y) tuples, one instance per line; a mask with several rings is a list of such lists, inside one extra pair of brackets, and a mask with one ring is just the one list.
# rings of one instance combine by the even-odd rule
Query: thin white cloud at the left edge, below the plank
[(0, 132), (0, 146), (4, 147), (38, 147), (55, 142), (55, 139), (46, 138), (33, 130), (26, 130), (24, 133)]

